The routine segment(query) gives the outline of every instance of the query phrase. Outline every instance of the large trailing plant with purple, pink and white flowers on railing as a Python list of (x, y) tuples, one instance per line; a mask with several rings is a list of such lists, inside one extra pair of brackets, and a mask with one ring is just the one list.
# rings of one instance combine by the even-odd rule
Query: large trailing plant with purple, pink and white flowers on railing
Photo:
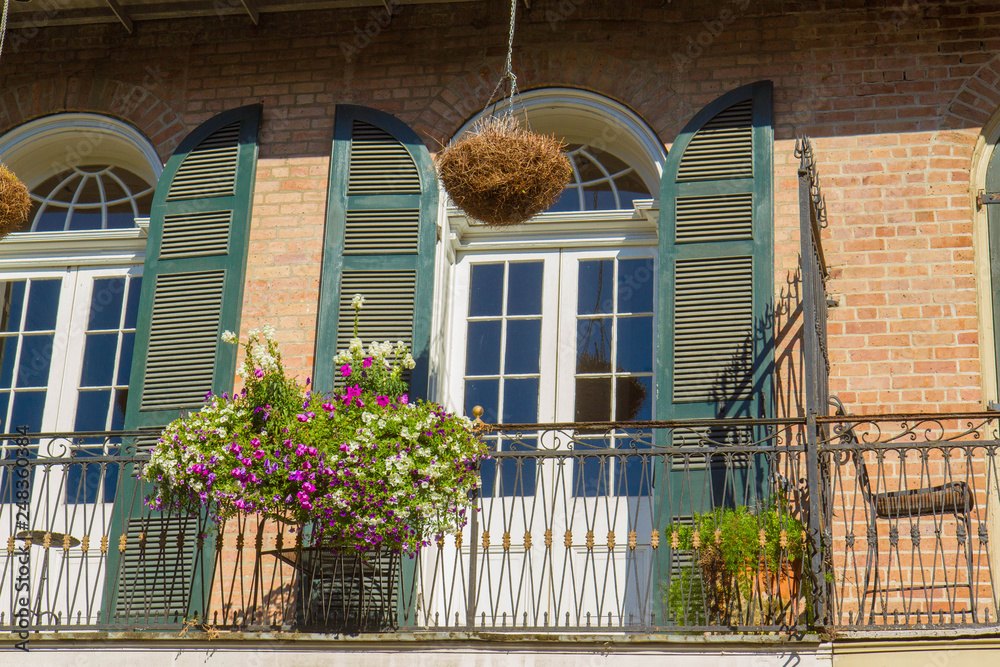
[(413, 357), (402, 342), (364, 347), (363, 301), (355, 296), (355, 338), (334, 359), (343, 387), (330, 395), (285, 375), (270, 329), (251, 331), (243, 390), (208, 396), (164, 430), (143, 472), (156, 484), (150, 506), (308, 524), (336, 550), (414, 553), (459, 530), (486, 447), (468, 418), (409, 401)]

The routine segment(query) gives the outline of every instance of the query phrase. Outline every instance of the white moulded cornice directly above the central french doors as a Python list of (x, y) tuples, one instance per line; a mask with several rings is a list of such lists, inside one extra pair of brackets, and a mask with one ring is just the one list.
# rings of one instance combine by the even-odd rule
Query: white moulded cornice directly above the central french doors
[(541, 213), (510, 227), (488, 227), (449, 206), (448, 241), (453, 253), (655, 245), (659, 202), (643, 199), (633, 205), (632, 210)]

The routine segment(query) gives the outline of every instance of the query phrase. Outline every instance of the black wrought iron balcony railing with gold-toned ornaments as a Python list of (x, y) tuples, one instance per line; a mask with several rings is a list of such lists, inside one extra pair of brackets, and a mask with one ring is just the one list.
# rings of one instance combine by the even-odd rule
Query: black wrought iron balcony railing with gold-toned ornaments
[(0, 631), (995, 625), (997, 418), (897, 421), (496, 427), (478, 511), (415, 558), (152, 512), (137, 433), (8, 440)]

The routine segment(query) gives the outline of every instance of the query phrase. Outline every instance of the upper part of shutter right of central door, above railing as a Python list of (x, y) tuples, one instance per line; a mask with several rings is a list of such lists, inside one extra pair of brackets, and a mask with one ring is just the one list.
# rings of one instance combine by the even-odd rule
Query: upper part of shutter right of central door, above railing
[(660, 185), (657, 418), (769, 417), (773, 400), (771, 84), (698, 113)]

